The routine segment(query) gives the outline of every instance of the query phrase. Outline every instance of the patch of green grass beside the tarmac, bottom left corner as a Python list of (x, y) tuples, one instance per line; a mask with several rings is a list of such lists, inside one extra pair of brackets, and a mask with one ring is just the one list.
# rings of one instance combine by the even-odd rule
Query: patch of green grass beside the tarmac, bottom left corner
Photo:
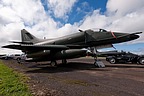
[(0, 61), (0, 96), (32, 96), (24, 83), (28, 78)]

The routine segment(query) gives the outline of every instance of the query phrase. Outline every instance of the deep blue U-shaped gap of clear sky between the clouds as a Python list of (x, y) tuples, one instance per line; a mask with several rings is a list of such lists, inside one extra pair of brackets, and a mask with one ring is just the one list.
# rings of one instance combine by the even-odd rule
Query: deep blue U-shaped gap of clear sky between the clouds
[(104, 14), (107, 1), (108, 0), (78, 0), (78, 2), (74, 4), (72, 10), (66, 14), (67, 18), (63, 19), (55, 17), (54, 14), (50, 12), (51, 9), (48, 7), (47, 0), (41, 0), (45, 11), (48, 12), (56, 22), (61, 22), (62, 24), (74, 24), (75, 22), (79, 22), (83, 20), (85, 16), (90, 15), (97, 9), (100, 10), (101, 14)]

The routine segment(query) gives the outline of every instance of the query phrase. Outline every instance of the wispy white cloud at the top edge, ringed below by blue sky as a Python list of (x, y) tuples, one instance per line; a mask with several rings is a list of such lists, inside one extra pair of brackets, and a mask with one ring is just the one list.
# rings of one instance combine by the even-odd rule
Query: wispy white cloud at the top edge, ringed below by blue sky
[(66, 19), (76, 2), (77, 0), (48, 0), (48, 8), (56, 18)]

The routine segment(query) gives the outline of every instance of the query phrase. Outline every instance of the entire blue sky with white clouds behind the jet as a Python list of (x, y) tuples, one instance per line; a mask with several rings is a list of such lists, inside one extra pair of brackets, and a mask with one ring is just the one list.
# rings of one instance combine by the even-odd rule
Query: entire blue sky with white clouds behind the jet
[[(144, 0), (0, 0), (0, 13), (0, 47), (11, 40), (20, 41), (22, 29), (39, 38), (56, 38), (90, 28), (144, 32)], [(137, 40), (114, 47), (144, 54), (144, 33)], [(0, 48), (0, 54), (19, 52)]]

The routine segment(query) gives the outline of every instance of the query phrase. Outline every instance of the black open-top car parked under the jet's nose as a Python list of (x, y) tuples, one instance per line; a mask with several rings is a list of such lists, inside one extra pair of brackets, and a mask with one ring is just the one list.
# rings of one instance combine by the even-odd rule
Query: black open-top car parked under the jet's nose
[(106, 57), (106, 61), (114, 63), (138, 63), (144, 65), (144, 55), (122, 52), (121, 54), (113, 54)]

